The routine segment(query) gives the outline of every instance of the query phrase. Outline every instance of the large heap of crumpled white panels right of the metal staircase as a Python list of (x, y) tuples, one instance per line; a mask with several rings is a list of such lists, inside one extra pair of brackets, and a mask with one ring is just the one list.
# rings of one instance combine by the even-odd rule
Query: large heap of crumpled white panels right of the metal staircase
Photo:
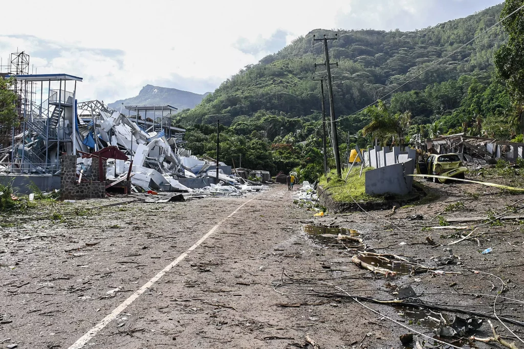
[[(185, 191), (193, 192), (193, 189), (182, 185), (178, 178), (216, 178), (216, 163), (209, 160), (200, 160), (191, 152), (177, 148), (173, 138), (167, 139), (165, 133), (146, 132), (141, 129), (133, 118), (127, 117), (118, 111), (99, 110), (100, 117), (93, 119), (89, 124), (79, 125), (79, 151), (89, 152), (85, 140), (91, 137), (94, 140), (95, 150), (100, 150), (104, 144), (116, 145), (128, 156), (127, 161), (107, 161), (107, 179), (117, 179), (127, 176), (131, 160), (132, 176), (130, 181), (135, 187), (144, 190), (156, 191)], [(99, 140), (100, 139), (100, 140)], [(187, 156), (182, 156), (187, 155)], [(79, 159), (79, 163), (90, 163), (90, 159)], [(225, 166), (224, 163), (219, 163)], [(210, 193), (238, 193), (240, 191), (250, 192), (265, 189), (262, 186), (250, 185), (249, 181), (238, 177), (226, 175), (219, 171), (219, 185), (212, 184), (210, 187), (200, 189)], [(221, 184), (226, 184), (222, 186)]]

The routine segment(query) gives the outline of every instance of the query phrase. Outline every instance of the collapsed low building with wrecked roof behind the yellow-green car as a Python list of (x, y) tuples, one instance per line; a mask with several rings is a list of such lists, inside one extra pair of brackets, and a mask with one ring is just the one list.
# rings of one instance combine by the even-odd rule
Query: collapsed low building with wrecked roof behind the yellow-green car
[(490, 163), (499, 159), (515, 162), (518, 158), (522, 159), (524, 153), (524, 143), (466, 136), (464, 133), (429, 139), (427, 147), (431, 153), (456, 153), (462, 156), (463, 161), (472, 163)]

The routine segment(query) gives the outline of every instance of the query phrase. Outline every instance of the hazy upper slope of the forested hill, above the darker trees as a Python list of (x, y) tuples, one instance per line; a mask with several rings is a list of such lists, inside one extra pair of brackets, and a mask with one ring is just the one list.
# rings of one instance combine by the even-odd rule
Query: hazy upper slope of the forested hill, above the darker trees
[[(502, 8), (503, 4), (500, 4), (466, 18), (410, 32), (338, 30), (339, 39), (330, 42), (332, 62), (339, 63), (332, 69), (337, 117), (350, 115), (367, 106), (470, 41), (498, 21)], [(304, 116), (311, 115), (305, 119), (318, 119), (319, 113), (312, 110), (320, 109), (320, 85), (312, 78), (323, 74), (322, 67), (316, 70), (314, 67), (315, 62), (323, 61), (323, 48), (321, 42), (313, 44), (313, 34), (318, 38), (323, 34), (334, 36), (333, 31), (316, 29), (297, 38), (278, 53), (265, 57), (258, 64), (246, 66), (223, 82), (200, 105), (181, 112), (178, 121), (190, 126), (209, 123), (216, 118), (208, 115), (229, 114), (227, 121), (238, 123), (248, 121), (254, 115), (258, 117), (259, 110), (274, 115), (285, 114), (287, 118), (304, 120)], [(478, 76), (487, 81), (494, 52), (506, 39), (504, 29), (497, 26), (439, 66), (423, 73), (402, 91), (420, 91), (434, 83), (456, 81), (461, 75)], [(436, 112), (445, 114), (451, 107), (433, 106), (420, 111), (424, 118), (420, 123), (429, 122)], [(416, 114), (414, 112), (414, 117)], [(346, 118), (342, 126), (352, 131), (362, 127), (347, 121)]]

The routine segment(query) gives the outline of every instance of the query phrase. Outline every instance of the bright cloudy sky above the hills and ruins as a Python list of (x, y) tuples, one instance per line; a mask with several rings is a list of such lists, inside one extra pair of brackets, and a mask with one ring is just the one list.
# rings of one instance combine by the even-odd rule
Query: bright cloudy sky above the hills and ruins
[(18, 0), (23, 11), (0, 20), (0, 57), (18, 49), (38, 74), (83, 77), (80, 101), (112, 103), (147, 84), (203, 94), (313, 29), (422, 29), (501, 2)]

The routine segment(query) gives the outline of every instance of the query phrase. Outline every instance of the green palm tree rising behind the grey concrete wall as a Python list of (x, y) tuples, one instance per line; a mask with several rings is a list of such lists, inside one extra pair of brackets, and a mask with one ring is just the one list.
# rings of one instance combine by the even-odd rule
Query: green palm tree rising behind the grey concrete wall
[(389, 139), (394, 139), (393, 143), (402, 146), (406, 130), (411, 123), (411, 112), (406, 111), (402, 114), (391, 114), (387, 106), (381, 100), (378, 105), (367, 107), (364, 114), (371, 118), (371, 122), (364, 127), (363, 134), (368, 136), (373, 134), (376, 138), (387, 143)]

